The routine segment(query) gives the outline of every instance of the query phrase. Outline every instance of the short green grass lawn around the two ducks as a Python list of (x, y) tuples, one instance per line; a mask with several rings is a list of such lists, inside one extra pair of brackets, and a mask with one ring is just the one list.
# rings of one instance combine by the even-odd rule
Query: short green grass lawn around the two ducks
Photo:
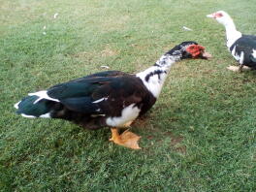
[[(256, 73), (226, 70), (236, 61), (224, 28), (206, 17), (225, 10), (256, 34), (255, 8), (253, 0), (0, 0), (0, 190), (256, 191)], [(28, 92), (101, 65), (139, 72), (188, 40), (213, 58), (171, 70), (133, 125), (140, 151), (109, 143), (108, 129), (15, 113)]]

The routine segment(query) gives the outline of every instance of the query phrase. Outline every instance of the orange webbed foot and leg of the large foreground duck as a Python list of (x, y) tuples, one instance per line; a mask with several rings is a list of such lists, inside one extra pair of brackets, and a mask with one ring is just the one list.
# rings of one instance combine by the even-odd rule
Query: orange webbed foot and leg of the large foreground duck
[(117, 128), (112, 128), (112, 138), (111, 142), (114, 144), (119, 144), (132, 149), (141, 149), (138, 141), (141, 139), (140, 136), (126, 130), (121, 135), (119, 135), (119, 130)]

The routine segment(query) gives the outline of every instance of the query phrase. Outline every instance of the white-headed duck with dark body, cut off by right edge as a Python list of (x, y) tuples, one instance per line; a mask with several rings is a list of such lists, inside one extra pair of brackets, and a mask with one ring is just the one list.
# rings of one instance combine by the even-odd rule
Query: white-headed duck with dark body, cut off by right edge
[(256, 36), (243, 35), (237, 30), (236, 25), (226, 12), (218, 11), (208, 15), (215, 18), (226, 28), (227, 47), (232, 55), (240, 63), (240, 67), (229, 66), (232, 71), (241, 71), (243, 69), (256, 69)]

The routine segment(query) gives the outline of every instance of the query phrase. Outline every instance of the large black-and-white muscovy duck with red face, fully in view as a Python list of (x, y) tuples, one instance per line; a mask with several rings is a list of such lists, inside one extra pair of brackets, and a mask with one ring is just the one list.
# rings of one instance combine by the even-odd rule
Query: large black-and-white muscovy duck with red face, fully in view
[(112, 141), (139, 149), (141, 137), (119, 128), (128, 127), (156, 102), (170, 67), (185, 58), (208, 58), (196, 42), (172, 48), (148, 69), (136, 75), (105, 71), (29, 93), (16, 103), (24, 117), (50, 117), (73, 121), (87, 129), (111, 127)]

